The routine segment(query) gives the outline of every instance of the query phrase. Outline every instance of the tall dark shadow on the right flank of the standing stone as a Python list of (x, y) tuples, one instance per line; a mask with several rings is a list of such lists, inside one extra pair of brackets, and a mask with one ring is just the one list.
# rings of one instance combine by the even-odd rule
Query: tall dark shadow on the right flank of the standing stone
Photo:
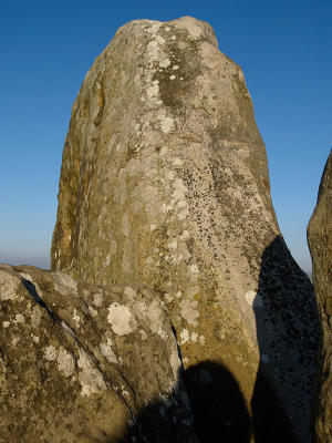
[(260, 365), (255, 441), (310, 442), (319, 323), (312, 285), (278, 236), (266, 248), (253, 300)]

